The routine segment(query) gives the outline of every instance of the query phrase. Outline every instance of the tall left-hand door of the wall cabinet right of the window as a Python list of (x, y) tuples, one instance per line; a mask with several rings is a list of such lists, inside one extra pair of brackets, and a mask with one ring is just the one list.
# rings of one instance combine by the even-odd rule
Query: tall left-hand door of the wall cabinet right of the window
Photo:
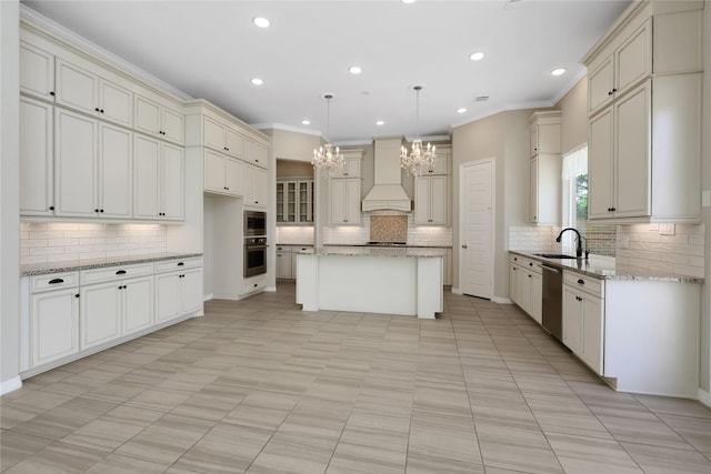
[(590, 120), (588, 144), (588, 218), (611, 216), (613, 186), (613, 121), (612, 108)]

